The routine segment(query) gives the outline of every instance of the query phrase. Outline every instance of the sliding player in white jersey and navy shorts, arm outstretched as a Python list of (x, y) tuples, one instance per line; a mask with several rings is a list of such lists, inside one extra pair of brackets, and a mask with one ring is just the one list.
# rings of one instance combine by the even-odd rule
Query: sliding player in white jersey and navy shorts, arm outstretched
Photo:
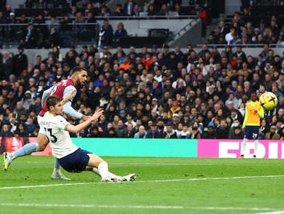
[(69, 131), (78, 133), (98, 120), (104, 109), (98, 109), (93, 116), (78, 125), (71, 125), (62, 117), (63, 107), (58, 96), (47, 98), (48, 111), (43, 116), (43, 128), (50, 142), (53, 155), (58, 158), (60, 165), (69, 172), (93, 171), (101, 176), (102, 182), (132, 181), (137, 177), (132, 173), (117, 176), (108, 171), (108, 164), (95, 154), (80, 149), (73, 144)]

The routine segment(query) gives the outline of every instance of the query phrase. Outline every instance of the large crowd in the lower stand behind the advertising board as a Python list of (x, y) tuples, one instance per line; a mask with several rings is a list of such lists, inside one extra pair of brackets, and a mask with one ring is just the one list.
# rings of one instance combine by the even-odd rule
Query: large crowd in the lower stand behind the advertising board
[[(43, 91), (69, 78), (79, 65), (88, 70), (88, 79), (73, 108), (91, 115), (102, 107), (104, 115), (72, 137), (242, 139), (250, 94), (270, 91), (279, 104), (265, 111), (260, 138), (283, 139), (283, 56), (274, 54), (269, 43), (261, 45), (256, 56), (247, 56), (237, 44), (205, 43), (200, 52), (192, 45), (186, 52), (178, 45), (174, 50), (152, 45), (139, 52), (134, 46), (76, 50), (71, 45), (65, 56), (54, 46), (48, 56), (36, 56), (34, 64), (23, 46), (17, 54), (1, 51), (0, 136), (37, 136)], [(71, 124), (81, 122), (64, 116)]]

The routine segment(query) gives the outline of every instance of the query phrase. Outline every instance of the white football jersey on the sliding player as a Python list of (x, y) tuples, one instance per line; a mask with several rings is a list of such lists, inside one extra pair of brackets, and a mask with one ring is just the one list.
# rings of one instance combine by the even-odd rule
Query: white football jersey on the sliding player
[(49, 140), (52, 153), (56, 158), (68, 156), (78, 149), (78, 147), (73, 144), (69, 131), (66, 131), (66, 127), (70, 125), (70, 123), (62, 116), (54, 116), (47, 111), (45, 116), (43, 116), (42, 124)]

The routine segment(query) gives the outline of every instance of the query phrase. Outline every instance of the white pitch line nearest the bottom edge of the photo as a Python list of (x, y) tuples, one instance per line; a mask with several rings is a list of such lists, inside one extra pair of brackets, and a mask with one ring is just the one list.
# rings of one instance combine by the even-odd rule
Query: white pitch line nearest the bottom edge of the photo
[[(218, 206), (164, 206), (164, 205), (107, 205), (107, 204), (16, 204), (0, 203), (0, 206), (22, 206), (22, 207), (64, 207), (64, 208), (132, 208), (132, 209), (191, 209), (191, 210), (222, 210), (222, 211), (270, 211), (269, 214), (283, 214), (274, 208), (254, 208), (254, 207), (218, 207)], [(278, 212), (278, 213), (277, 213)], [(281, 213), (279, 213), (281, 212)], [(259, 213), (260, 214), (260, 213)], [(265, 213), (261, 213), (265, 214)], [(268, 214), (268, 213), (267, 213)]]

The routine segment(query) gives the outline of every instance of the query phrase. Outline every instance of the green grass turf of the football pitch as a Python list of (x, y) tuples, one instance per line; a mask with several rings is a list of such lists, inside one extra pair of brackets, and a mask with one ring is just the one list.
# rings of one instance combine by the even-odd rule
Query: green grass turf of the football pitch
[(0, 213), (284, 213), (283, 160), (104, 159), (137, 180), (102, 183), (66, 171), (71, 181), (51, 180), (51, 156), (14, 160), (0, 173)]

